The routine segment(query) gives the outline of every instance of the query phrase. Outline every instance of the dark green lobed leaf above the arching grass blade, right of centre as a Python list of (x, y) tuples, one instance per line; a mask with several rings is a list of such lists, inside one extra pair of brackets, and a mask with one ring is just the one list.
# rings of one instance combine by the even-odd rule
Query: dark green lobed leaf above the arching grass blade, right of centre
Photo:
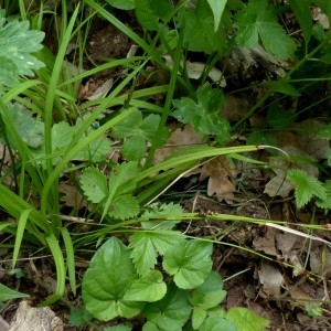
[(173, 100), (177, 108), (173, 116), (181, 122), (191, 124), (195, 131), (216, 135), (218, 142), (224, 143), (229, 139), (231, 127), (226, 119), (220, 115), (224, 104), (221, 89), (210, 85), (200, 86), (196, 90), (196, 103), (188, 97)]

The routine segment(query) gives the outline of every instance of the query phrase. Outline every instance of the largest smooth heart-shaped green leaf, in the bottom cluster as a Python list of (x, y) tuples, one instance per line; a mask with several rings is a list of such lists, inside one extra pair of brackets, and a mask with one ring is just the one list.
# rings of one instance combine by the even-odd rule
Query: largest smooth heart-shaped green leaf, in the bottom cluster
[(128, 248), (111, 237), (96, 252), (84, 275), (82, 290), (86, 309), (103, 321), (137, 316), (145, 303), (124, 299), (137, 278)]

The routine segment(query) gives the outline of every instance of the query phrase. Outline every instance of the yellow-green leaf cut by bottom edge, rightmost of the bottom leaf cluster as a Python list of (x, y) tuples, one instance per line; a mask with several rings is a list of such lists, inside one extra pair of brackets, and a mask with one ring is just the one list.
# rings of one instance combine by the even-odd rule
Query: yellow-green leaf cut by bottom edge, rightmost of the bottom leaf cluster
[(236, 325), (237, 331), (264, 331), (270, 324), (268, 320), (243, 307), (229, 308), (226, 319)]

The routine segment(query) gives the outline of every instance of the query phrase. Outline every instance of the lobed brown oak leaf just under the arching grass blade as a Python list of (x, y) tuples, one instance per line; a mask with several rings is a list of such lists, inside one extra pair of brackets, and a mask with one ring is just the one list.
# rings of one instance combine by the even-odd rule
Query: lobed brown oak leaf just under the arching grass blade
[(237, 171), (232, 168), (224, 156), (220, 156), (201, 168), (200, 180), (209, 179), (207, 195), (216, 194), (218, 201), (233, 202), (236, 188), (229, 178), (236, 178)]

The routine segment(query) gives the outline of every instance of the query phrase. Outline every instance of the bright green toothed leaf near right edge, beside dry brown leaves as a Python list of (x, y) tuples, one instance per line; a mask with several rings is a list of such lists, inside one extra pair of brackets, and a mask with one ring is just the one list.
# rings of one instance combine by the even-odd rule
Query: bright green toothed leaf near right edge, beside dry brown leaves
[(300, 209), (316, 195), (320, 200), (327, 199), (325, 188), (314, 177), (309, 175), (301, 169), (291, 169), (287, 178), (296, 184), (295, 196), (297, 206)]

